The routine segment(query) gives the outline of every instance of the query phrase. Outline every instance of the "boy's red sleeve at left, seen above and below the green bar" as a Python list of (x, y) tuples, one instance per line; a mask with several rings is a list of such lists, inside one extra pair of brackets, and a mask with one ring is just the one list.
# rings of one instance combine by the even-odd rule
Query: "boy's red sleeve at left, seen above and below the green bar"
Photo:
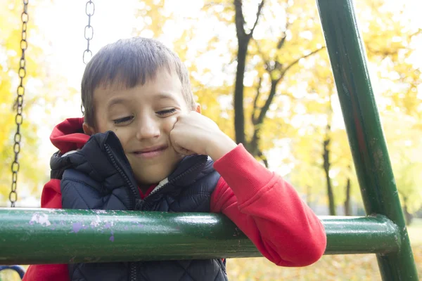
[[(60, 180), (51, 180), (41, 194), (41, 208), (61, 209)], [(37, 264), (29, 266), (23, 281), (70, 281), (67, 264)]]

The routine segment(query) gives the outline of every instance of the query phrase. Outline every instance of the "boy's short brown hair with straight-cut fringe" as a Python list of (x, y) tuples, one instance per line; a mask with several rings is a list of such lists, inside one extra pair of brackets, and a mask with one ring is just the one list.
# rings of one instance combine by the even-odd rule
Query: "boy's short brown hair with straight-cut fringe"
[(84, 121), (95, 127), (94, 90), (98, 86), (119, 81), (122, 86), (133, 88), (154, 79), (163, 67), (177, 73), (186, 104), (194, 110), (196, 104), (188, 70), (179, 56), (157, 40), (134, 37), (104, 46), (85, 67), (81, 84)]

